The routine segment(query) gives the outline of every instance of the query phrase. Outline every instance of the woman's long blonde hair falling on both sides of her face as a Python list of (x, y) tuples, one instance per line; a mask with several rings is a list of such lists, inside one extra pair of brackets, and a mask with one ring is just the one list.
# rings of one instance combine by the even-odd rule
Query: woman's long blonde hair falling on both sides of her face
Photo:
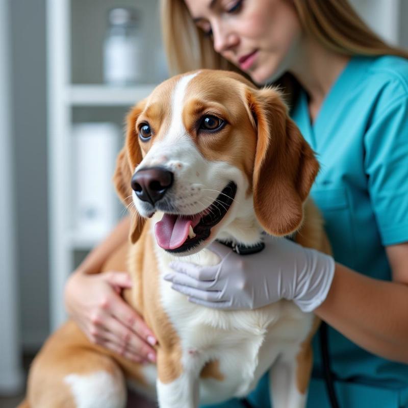
[[(324, 47), (342, 55), (395, 55), (408, 52), (388, 45), (368, 28), (347, 0), (288, 0), (298, 15), (302, 29)], [(215, 52), (210, 37), (196, 27), (183, 0), (161, 0), (163, 42), (170, 72), (199, 68), (227, 69), (243, 73)], [(293, 100), (294, 78), (285, 74), (279, 84)]]

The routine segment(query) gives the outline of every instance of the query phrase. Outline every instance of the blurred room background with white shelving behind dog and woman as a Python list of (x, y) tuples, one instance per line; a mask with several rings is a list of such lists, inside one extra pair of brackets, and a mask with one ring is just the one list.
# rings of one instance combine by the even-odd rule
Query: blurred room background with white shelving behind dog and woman
[[(351, 3), (408, 48), (408, 0)], [(166, 78), (158, 0), (0, 0), (0, 407), (64, 321), (66, 277), (123, 216), (123, 118)]]

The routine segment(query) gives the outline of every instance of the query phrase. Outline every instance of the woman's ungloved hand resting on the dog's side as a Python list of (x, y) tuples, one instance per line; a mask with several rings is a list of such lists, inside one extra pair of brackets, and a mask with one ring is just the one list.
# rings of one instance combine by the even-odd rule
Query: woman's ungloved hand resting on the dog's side
[(153, 333), (120, 296), (131, 287), (126, 272), (74, 272), (65, 286), (66, 309), (92, 343), (138, 363), (155, 362)]

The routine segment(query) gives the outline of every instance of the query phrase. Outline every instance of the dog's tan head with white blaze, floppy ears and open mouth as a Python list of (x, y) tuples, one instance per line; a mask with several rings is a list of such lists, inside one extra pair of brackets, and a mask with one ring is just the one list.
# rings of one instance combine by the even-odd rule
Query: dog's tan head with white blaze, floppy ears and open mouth
[(251, 245), (262, 229), (296, 231), (318, 167), (278, 91), (199, 70), (165, 81), (131, 110), (115, 184), (136, 213), (132, 242), (138, 216), (160, 212), (157, 243), (186, 255), (216, 238)]

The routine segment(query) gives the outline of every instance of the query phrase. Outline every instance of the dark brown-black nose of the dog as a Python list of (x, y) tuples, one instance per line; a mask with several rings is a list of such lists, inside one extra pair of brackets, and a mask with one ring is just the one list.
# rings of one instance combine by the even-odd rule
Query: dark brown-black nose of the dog
[(132, 188), (142, 201), (151, 205), (159, 201), (173, 184), (173, 173), (162, 167), (138, 170), (132, 177)]

